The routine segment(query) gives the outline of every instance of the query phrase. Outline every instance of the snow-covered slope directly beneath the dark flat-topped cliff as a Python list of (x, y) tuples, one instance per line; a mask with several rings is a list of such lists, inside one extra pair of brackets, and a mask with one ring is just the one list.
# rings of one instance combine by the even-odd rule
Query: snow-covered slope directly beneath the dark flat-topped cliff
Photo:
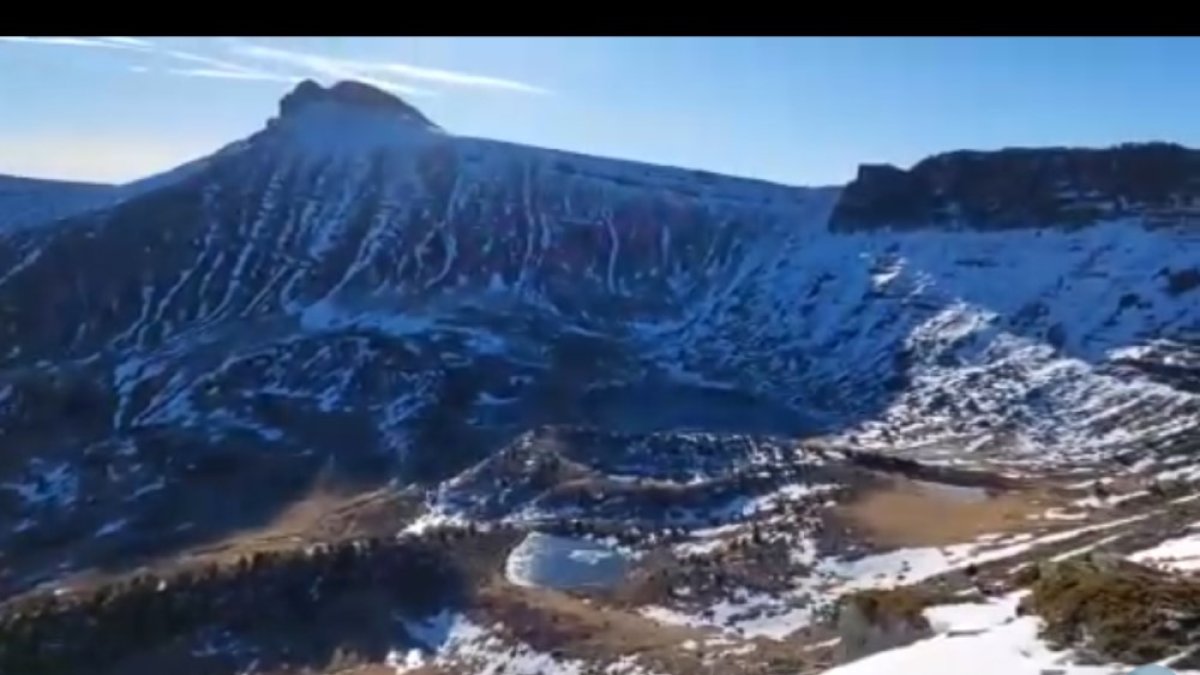
[(1193, 387), (1128, 357), (1195, 353), (1195, 298), (1162, 270), (1195, 265), (1198, 245), (1195, 232), (1136, 222), (798, 233), (762, 265), (769, 281), (659, 344), (810, 412), (859, 412), (859, 441), (1114, 448), (1196, 424)]

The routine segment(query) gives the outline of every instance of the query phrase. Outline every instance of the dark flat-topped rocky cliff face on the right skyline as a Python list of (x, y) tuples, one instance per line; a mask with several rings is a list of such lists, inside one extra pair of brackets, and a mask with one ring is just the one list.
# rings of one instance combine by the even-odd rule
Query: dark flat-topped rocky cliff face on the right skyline
[(936, 155), (908, 171), (868, 165), (832, 227), (1014, 229), (1140, 217), (1200, 222), (1200, 151), (1165, 143)]

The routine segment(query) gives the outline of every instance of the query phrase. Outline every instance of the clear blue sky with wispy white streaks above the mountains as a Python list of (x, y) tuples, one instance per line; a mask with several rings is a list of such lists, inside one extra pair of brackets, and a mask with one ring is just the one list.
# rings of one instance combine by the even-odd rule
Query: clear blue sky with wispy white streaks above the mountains
[(960, 148), (1200, 145), (1190, 38), (4, 38), (0, 173), (120, 181), (259, 129), (301, 78), (446, 130), (798, 185)]

